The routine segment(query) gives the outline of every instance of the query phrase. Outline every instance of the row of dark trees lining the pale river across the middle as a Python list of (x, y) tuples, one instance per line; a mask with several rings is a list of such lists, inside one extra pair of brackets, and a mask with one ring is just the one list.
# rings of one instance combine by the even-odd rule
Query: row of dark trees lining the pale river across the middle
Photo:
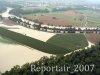
[(76, 31), (78, 31), (79, 33), (84, 33), (84, 32), (86, 32), (86, 33), (94, 33), (94, 32), (98, 33), (98, 32), (100, 32), (99, 28), (97, 28), (97, 29), (87, 29), (86, 28), (84, 30), (82, 30), (81, 28), (77, 29), (77, 28), (72, 27), (72, 26), (66, 26), (65, 29), (61, 29), (62, 26), (59, 26), (59, 28), (56, 28), (56, 27), (49, 28), (49, 26), (53, 26), (53, 25), (42, 26), (43, 23), (39, 22), (39, 20), (34, 20), (35, 23), (34, 24), (30, 24), (29, 21), (27, 21), (27, 22), (26, 21), (22, 21), (22, 19), (16, 18), (16, 17), (13, 17), (13, 18), (9, 17), (9, 19), (14, 21), (14, 22), (17, 22), (18, 24), (20, 24), (22, 26), (25, 26), (27, 28), (34, 28), (36, 30), (42, 30), (42, 31), (51, 30), (54, 33), (61, 33), (61, 32), (66, 33), (66, 31), (67, 31), (67, 33), (76, 33)]

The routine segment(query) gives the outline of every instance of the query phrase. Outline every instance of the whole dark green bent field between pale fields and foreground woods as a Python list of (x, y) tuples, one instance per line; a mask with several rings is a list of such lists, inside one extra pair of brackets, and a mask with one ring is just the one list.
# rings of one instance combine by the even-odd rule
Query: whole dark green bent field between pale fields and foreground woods
[[(57, 34), (50, 38), (47, 42), (43, 42), (0, 27), (0, 35), (16, 41), (17, 44), (29, 46), (46, 53), (57, 55), (66, 54), (76, 49), (84, 48), (88, 45), (83, 34)], [(5, 41), (2, 39), (0, 41), (12, 43), (9, 42), (10, 40)]]

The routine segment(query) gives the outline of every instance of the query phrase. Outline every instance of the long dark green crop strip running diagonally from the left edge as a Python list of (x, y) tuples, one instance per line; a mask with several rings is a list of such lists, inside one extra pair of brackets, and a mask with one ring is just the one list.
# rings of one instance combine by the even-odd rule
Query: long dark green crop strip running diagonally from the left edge
[(30, 48), (34, 48), (34, 49), (40, 50), (42, 52), (50, 53), (50, 54), (66, 54), (71, 51), (63, 47), (52, 45), (50, 43), (45, 43), (43, 41), (28, 37), (22, 34), (9, 31), (2, 27), (0, 27), (0, 35), (10, 38), (16, 41), (18, 44), (28, 46)]

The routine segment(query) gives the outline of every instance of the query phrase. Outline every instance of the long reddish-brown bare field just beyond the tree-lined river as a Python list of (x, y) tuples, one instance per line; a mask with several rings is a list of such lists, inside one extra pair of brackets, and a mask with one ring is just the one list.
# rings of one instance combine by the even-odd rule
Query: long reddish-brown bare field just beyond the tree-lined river
[(38, 19), (40, 22), (43, 22), (44, 24), (50, 24), (50, 25), (57, 25), (57, 26), (81, 26), (80, 23), (76, 23), (76, 22), (70, 22), (70, 21), (66, 21), (64, 19), (60, 19), (60, 18), (53, 18), (51, 16), (38, 16), (38, 17), (27, 17), (28, 19)]

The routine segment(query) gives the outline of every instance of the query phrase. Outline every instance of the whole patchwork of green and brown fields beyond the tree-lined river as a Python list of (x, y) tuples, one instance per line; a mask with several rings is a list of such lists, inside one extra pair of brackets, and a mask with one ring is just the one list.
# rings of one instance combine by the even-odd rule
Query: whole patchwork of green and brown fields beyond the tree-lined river
[[(22, 14), (22, 17), (26, 17), (32, 20), (39, 20), (44, 24), (62, 25), (62, 26), (84, 26), (87, 21), (87, 26), (100, 26), (100, 14), (94, 10), (68, 10), (52, 12), (52, 8), (49, 7), (25, 7), (24, 10), (32, 9), (48, 9), (49, 13), (33, 13)], [(92, 15), (91, 15), (92, 14)], [(86, 20), (86, 17), (87, 20)], [(55, 17), (56, 19), (53, 19)], [(59, 22), (60, 21), (60, 22)], [(61, 22), (62, 21), (62, 22)], [(65, 22), (66, 21), (66, 22)]]

